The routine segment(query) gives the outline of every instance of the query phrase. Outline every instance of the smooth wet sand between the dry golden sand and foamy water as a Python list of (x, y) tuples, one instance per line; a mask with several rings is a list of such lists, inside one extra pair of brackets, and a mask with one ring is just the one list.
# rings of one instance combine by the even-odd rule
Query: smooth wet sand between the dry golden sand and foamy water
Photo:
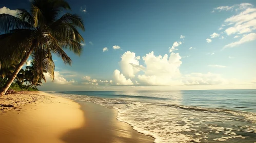
[(117, 121), (117, 110), (91, 102), (78, 103), (82, 106), (86, 120), (83, 127), (63, 135), (65, 142), (153, 142), (152, 137), (133, 130), (127, 123)]

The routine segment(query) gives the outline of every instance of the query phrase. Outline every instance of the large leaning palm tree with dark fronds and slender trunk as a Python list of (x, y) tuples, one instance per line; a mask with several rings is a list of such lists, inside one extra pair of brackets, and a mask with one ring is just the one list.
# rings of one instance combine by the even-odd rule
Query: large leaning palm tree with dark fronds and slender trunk
[(83, 20), (70, 13), (60, 17), (62, 10), (70, 10), (64, 0), (33, 0), (30, 12), (18, 9), (18, 17), (0, 14), (0, 32), (4, 33), (0, 35), (1, 63), (20, 61), (0, 95), (5, 94), (30, 55), (36, 70), (46, 69), (54, 80), (52, 53), (70, 65), (72, 61), (64, 50), (81, 54), (84, 39), (77, 28), (85, 30)]

